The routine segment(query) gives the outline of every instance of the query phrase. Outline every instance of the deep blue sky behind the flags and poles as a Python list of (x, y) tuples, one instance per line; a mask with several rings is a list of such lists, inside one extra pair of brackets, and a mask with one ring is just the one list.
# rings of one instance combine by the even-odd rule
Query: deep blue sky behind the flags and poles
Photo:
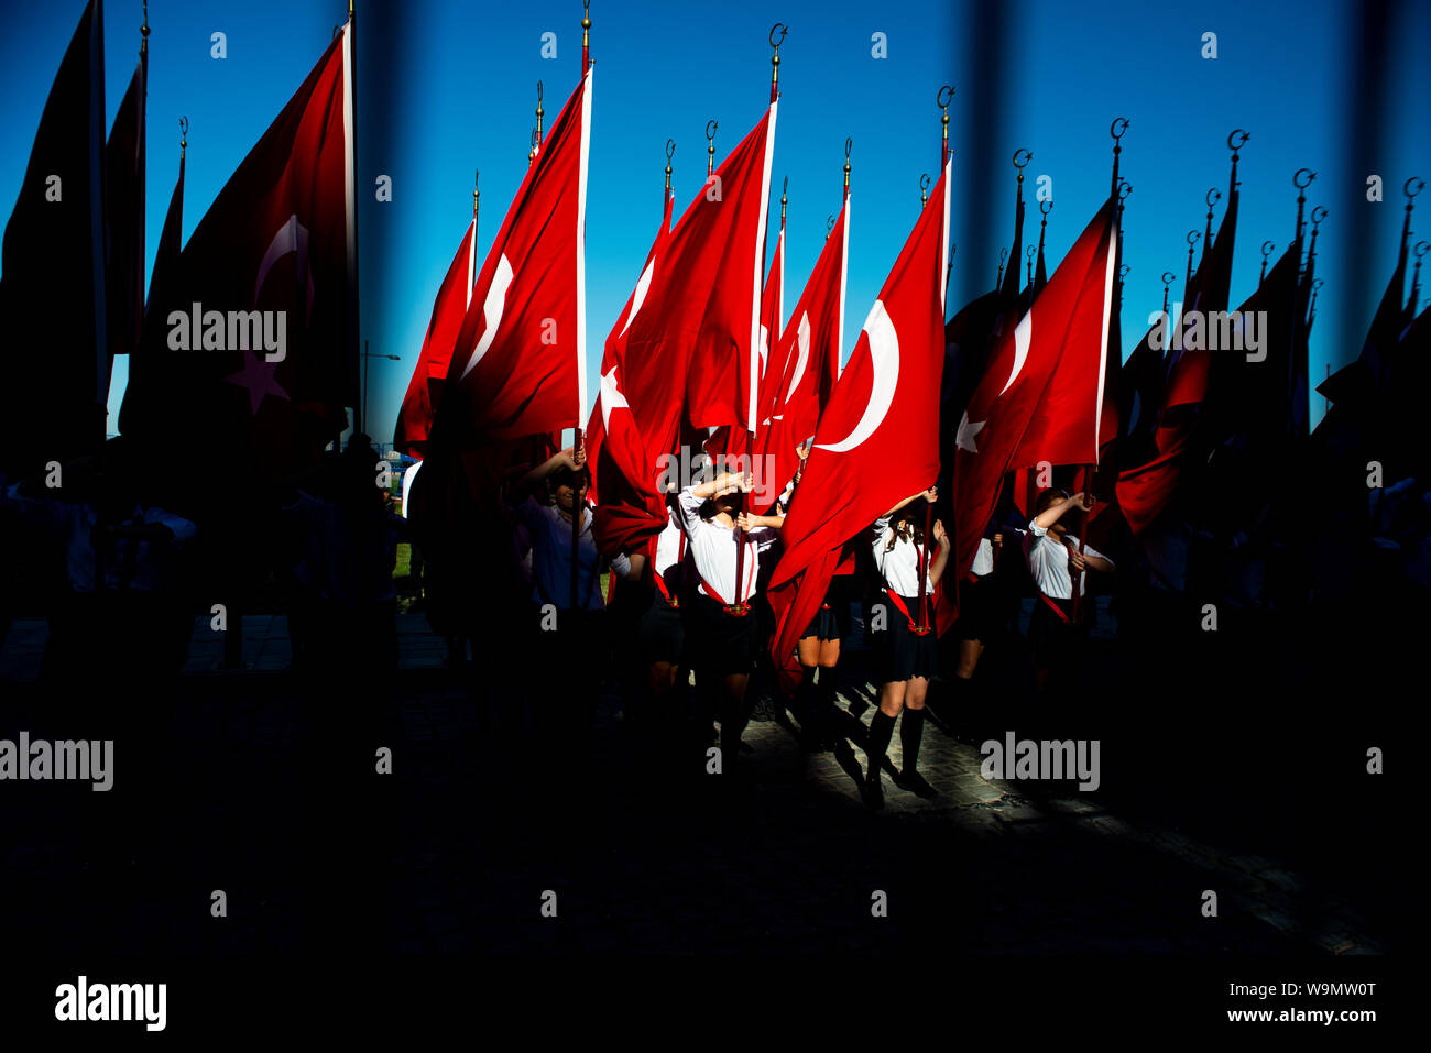
[[(392, 7), (401, 7), (394, 13)], [(1003, 46), (979, 31), (980, 10), (1006, 14)], [(919, 212), (920, 173), (937, 175), (934, 93), (957, 87), (950, 107), (954, 216), (959, 245), (950, 310), (990, 288), (1012, 230), (1015, 147), (1033, 150), (1037, 175), (1053, 177), (1049, 248), (1056, 260), (1106, 193), (1108, 124), (1123, 139), (1123, 175), (1135, 190), (1125, 216), (1132, 268), (1123, 313), (1125, 351), (1161, 303), (1159, 273), (1179, 275), (1183, 236), (1202, 229), (1209, 186), (1226, 187), (1234, 127), (1252, 133), (1239, 169), (1242, 222), (1234, 299), (1248, 295), (1258, 246), (1285, 248), (1295, 219), (1291, 175), (1318, 172), (1308, 207), (1325, 205), (1318, 272), (1327, 279), (1312, 336), (1314, 382), (1324, 365), (1352, 358), (1390, 276), (1401, 229), (1401, 183), (1431, 179), (1431, 4), (1408, 0), (1375, 52), (1384, 99), (1367, 106), (1355, 89), (1359, 4), (1229, 3), (980, 4), (979, 0), (730, 1), (718, 9), (670, 3), (597, 3), (597, 62), (588, 190), (588, 348), (594, 376), (601, 345), (631, 290), (660, 219), (667, 137), (677, 142), (677, 209), (700, 187), (705, 122), (716, 119), (717, 163), (758, 120), (768, 92), (767, 33), (790, 26), (781, 47), (781, 109), (774, 193), (790, 179), (786, 305), (840, 205), (843, 145), (854, 139), (853, 225), (846, 318), (849, 355)], [(9, 215), (60, 56), (83, 4), (7, 4), (0, 77), (0, 209)], [(149, 255), (177, 172), (177, 117), (190, 119), (185, 236), (192, 233), (233, 167), (302, 82), (342, 0), (250, 0), (245, 4), (150, 4)], [(106, 102), (119, 106), (139, 46), (140, 3), (106, 4)], [(416, 0), (359, 4), (359, 195), (362, 329), (373, 353), (369, 413), (378, 439), (392, 421), (422, 342), (436, 285), (471, 216), (472, 169), (481, 167), (485, 252), (527, 165), (535, 82), (544, 80), (547, 126), (578, 82), (581, 4), (471, 4)], [(213, 31), (229, 57), (209, 54)], [(557, 33), (557, 59), (541, 36)], [(1218, 59), (1202, 59), (1202, 34), (1218, 34)], [(871, 57), (871, 34), (887, 59)], [(992, 122), (976, 120), (993, 112)], [(1365, 199), (1365, 177), (1385, 179), (1385, 202)], [(373, 200), (378, 175), (394, 200)], [(1431, 196), (1414, 223), (1431, 232)], [(1225, 202), (1218, 206), (1221, 222)], [(1030, 206), (1026, 236), (1037, 233)], [(771, 209), (771, 230), (778, 207)], [(1431, 233), (1422, 233), (1431, 240)], [(1428, 275), (1431, 279), (1431, 275)], [(116, 368), (112, 412), (124, 371)], [(591, 383), (592, 393), (595, 383)], [(1314, 419), (1321, 399), (1312, 399)]]

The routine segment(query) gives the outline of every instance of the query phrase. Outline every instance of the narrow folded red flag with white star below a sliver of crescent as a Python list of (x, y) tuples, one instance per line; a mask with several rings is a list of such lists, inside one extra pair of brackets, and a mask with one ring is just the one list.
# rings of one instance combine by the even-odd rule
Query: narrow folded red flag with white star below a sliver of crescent
[[(627, 298), (621, 315), (607, 336), (601, 356), (601, 388), (597, 405), (587, 422), (587, 461), (592, 466), (592, 499), (595, 521), (592, 529), (604, 552), (635, 551), (665, 525), (665, 504), (657, 485), (655, 458), (670, 449), (653, 449), (641, 431), (638, 406), (641, 392), (653, 379), (648, 363), (628, 355), (628, 335), (665, 256), (670, 240), (673, 197), (665, 197), (665, 212), (655, 240), (645, 256), (645, 266), (635, 289)], [(631, 402), (630, 391), (635, 402)]]

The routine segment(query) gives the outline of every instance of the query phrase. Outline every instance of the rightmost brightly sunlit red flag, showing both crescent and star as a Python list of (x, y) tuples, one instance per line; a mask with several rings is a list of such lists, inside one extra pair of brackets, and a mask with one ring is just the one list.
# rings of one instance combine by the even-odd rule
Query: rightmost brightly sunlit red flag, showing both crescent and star
[[(946, 579), (962, 581), (973, 567), (1006, 472), (1098, 461), (1116, 237), (1118, 203), (1109, 199), (989, 358), (956, 434)], [(957, 605), (942, 622), (954, 614)]]

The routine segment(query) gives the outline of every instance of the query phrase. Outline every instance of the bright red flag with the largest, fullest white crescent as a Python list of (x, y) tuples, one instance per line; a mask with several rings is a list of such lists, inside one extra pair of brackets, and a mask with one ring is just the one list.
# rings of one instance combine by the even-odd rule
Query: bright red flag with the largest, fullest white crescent
[[(884, 279), (814, 431), (770, 579), (771, 658), (798, 682), (796, 641), (824, 602), (840, 548), (939, 476), (939, 382), (944, 366), (949, 172)], [(834, 239), (831, 237), (831, 242)]]

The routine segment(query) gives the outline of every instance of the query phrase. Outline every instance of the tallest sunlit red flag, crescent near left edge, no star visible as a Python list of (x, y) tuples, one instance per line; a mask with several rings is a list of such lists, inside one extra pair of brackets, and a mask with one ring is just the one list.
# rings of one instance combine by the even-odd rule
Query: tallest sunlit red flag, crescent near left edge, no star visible
[(436, 422), (461, 446), (581, 425), (591, 77), (551, 126), (477, 279)]

